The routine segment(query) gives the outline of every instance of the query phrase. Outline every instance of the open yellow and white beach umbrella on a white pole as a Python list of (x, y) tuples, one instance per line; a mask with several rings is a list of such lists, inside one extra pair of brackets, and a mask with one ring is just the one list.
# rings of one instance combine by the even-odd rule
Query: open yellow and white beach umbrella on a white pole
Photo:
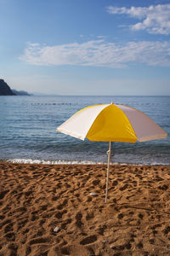
[(167, 137), (167, 133), (149, 116), (135, 108), (114, 104), (100, 104), (83, 108), (57, 131), (89, 141), (109, 142), (105, 202), (107, 201), (111, 142), (136, 143)]

